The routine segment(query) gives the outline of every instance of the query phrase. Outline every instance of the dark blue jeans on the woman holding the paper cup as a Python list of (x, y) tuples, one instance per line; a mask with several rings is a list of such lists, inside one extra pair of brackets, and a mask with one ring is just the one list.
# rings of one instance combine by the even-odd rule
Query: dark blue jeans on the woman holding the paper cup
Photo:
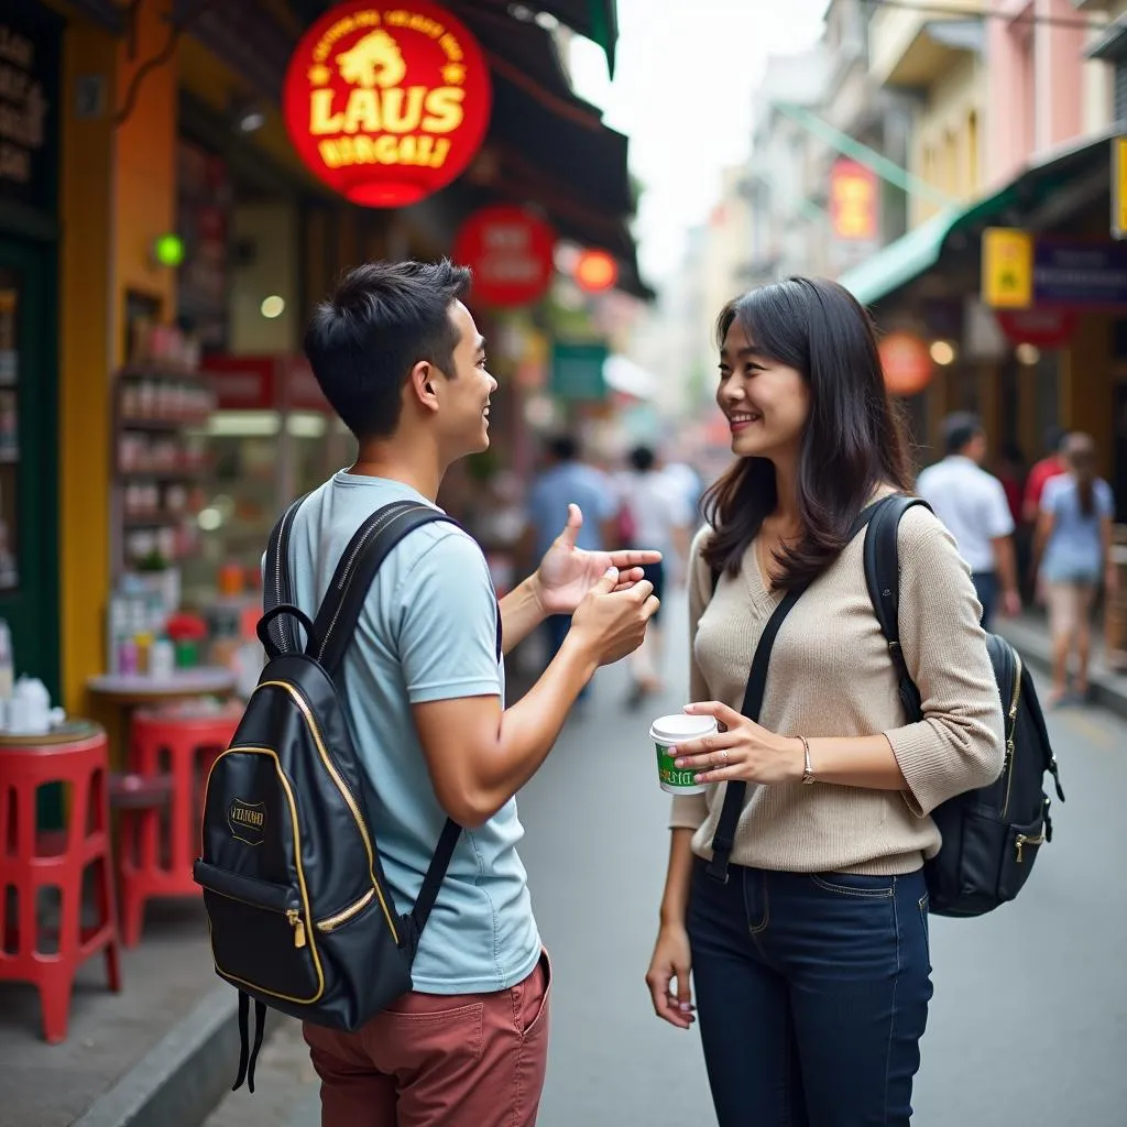
[(907, 1127), (931, 964), (923, 871), (698, 861), (693, 982), (720, 1127)]

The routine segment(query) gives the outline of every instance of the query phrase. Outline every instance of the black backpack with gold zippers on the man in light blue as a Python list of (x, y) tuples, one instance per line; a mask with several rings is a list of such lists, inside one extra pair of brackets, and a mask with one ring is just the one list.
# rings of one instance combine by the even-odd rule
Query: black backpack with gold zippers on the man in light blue
[(267, 1006), (355, 1030), (411, 988), (419, 935), (461, 833), (447, 819), (414, 908), (398, 914), (341, 707), (345, 651), (376, 570), (409, 532), (451, 518), (417, 502), (374, 513), (310, 621), (293, 604), (286, 562), (300, 505), (270, 534), (258, 622), (267, 664), (231, 746), (208, 773), (194, 867), (215, 970), (239, 991), (234, 1088), (246, 1080), (250, 1091)]

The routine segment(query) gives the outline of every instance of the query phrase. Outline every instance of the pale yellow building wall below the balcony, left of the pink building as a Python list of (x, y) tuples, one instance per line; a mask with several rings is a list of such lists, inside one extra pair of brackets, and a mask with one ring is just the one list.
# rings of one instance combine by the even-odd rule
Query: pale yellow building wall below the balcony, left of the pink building
[[(982, 188), (985, 98), (985, 71), (977, 59), (966, 55), (935, 82), (915, 121), (911, 171), (952, 201), (970, 199)], [(926, 199), (909, 196), (909, 227), (938, 210)]]

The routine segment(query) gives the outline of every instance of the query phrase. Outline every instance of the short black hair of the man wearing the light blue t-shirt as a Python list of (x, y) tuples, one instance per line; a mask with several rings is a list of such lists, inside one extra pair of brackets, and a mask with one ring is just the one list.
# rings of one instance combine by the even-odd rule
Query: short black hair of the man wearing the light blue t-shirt
[(399, 425), (402, 388), (428, 361), (454, 374), (458, 330), (450, 307), (470, 272), (441, 263), (365, 263), (317, 307), (305, 355), (325, 398), (357, 438), (385, 438)]

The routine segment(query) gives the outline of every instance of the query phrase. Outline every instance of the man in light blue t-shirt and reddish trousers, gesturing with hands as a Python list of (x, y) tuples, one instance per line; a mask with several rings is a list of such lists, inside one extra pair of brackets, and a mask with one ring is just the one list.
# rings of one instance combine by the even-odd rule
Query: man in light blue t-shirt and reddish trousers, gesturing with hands
[[(349, 539), (391, 502), (434, 504), (446, 468), (489, 445), (485, 340), (462, 303), (469, 272), (372, 263), (317, 310), (305, 352), (356, 436), (355, 464), (301, 506), (298, 604), (312, 614)], [(548, 1047), (549, 968), (516, 854), (513, 796), (543, 763), (595, 668), (632, 651), (657, 609), (657, 552), (576, 548), (582, 514), (499, 613), (511, 649), (574, 612), (559, 656), (504, 708), (497, 603), (478, 545), (429, 524), (380, 568), (345, 659), (345, 708), (371, 783), (396, 907), (410, 907), (447, 816), (465, 827), (415, 959), (415, 990), (363, 1029), (307, 1024), (325, 1127), (525, 1127)], [(621, 570), (615, 571), (615, 568)]]

